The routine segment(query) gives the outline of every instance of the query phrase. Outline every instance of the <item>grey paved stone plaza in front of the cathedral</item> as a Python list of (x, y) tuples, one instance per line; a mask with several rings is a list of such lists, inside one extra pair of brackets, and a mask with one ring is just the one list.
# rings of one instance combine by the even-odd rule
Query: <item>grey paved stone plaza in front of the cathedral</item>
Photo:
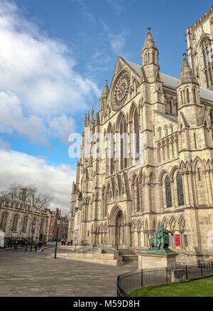
[(0, 296), (116, 296), (116, 276), (137, 268), (54, 260), (53, 251), (1, 250)]

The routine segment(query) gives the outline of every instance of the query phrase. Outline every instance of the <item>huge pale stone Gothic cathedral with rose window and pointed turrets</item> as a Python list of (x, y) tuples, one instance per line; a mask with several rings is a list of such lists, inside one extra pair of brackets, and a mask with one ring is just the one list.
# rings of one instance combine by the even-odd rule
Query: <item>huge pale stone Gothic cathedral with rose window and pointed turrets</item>
[(99, 112), (85, 115), (69, 218), (74, 244), (137, 253), (163, 223), (180, 261), (213, 258), (213, 7), (186, 38), (173, 78), (160, 72), (148, 28), (141, 64), (119, 57)]

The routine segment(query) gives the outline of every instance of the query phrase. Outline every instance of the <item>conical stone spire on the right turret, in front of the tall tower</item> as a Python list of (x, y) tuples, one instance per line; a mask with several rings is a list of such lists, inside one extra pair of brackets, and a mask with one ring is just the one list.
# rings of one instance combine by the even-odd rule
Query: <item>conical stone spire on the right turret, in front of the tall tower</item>
[(193, 73), (193, 70), (187, 61), (187, 55), (186, 53), (183, 53), (182, 68), (180, 70), (178, 87), (182, 84), (189, 84), (189, 83), (195, 83), (199, 85), (197, 79), (195, 78), (195, 74)]

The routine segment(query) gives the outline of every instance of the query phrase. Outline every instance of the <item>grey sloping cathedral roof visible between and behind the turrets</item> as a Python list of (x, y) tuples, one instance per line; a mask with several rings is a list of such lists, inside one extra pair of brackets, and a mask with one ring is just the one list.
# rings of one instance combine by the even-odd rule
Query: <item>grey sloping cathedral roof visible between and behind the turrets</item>
[[(137, 74), (141, 75), (141, 65), (136, 63), (132, 63), (131, 61), (125, 60), (126, 63), (129, 65), (130, 68)], [(171, 77), (170, 75), (165, 75), (165, 73), (160, 73), (161, 78), (163, 80), (163, 84), (168, 88), (177, 88), (178, 86), (178, 79), (175, 77)], [(213, 101), (213, 91), (207, 90), (206, 88), (200, 88), (200, 97), (204, 100), (211, 100)]]

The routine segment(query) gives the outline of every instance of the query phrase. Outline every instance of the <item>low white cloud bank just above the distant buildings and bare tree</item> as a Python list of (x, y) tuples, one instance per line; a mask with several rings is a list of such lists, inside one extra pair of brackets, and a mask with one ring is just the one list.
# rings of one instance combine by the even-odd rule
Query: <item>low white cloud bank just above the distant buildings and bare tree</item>
[(63, 214), (70, 211), (70, 194), (75, 172), (65, 164), (53, 166), (46, 159), (21, 152), (0, 149), (0, 189), (9, 184), (35, 184), (40, 193), (53, 197), (50, 208), (60, 207)]

